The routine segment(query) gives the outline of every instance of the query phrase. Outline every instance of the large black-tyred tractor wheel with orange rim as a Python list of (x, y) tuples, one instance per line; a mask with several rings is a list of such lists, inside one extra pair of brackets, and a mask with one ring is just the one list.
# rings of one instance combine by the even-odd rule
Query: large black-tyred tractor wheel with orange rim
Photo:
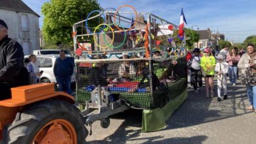
[(17, 113), (8, 143), (85, 143), (88, 131), (79, 110), (67, 101), (43, 101)]

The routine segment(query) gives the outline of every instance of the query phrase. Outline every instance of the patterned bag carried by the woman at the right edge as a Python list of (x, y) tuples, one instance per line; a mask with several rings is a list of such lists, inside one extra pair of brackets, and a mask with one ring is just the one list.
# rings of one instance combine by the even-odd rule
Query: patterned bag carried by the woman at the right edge
[(251, 71), (251, 68), (245, 70), (245, 73), (241, 77), (242, 84), (256, 86), (256, 73)]

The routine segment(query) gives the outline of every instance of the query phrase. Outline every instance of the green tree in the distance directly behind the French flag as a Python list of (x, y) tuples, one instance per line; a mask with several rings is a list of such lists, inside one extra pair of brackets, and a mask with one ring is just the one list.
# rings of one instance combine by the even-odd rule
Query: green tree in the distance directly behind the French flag
[[(185, 30), (185, 37), (186, 37), (186, 48), (192, 49), (194, 48), (194, 43), (198, 43), (200, 39), (200, 35), (192, 30), (192, 29), (184, 29)], [(182, 41), (177, 37), (179, 30), (175, 30), (173, 33), (174, 41), (177, 45), (181, 45)]]

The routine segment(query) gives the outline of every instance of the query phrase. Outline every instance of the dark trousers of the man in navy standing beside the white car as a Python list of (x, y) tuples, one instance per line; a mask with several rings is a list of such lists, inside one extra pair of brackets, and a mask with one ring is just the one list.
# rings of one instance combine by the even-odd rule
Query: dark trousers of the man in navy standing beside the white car
[(68, 94), (71, 94), (71, 77), (56, 77), (56, 81), (58, 83), (58, 90), (64, 91)]

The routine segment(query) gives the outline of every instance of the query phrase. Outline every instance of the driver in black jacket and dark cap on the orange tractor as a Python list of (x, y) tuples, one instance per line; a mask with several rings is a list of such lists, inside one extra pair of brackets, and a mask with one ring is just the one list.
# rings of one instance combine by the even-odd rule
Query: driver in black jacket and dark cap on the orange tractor
[(28, 84), (24, 53), (20, 44), (8, 37), (8, 26), (0, 19), (0, 99), (11, 97), (11, 88)]

